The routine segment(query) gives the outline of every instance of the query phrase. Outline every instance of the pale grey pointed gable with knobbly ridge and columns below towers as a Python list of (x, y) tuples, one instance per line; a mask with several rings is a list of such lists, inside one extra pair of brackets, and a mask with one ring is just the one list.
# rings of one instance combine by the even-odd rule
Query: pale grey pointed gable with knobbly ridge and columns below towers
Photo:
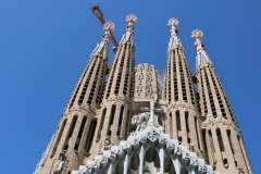
[[(142, 173), (144, 157), (150, 148), (156, 149), (160, 157), (160, 163), (164, 165), (166, 159), (172, 161), (176, 173), (187, 171), (188, 173), (197, 174), (220, 174), (214, 172), (211, 165), (204, 164), (203, 159), (197, 158), (195, 152), (189, 152), (185, 146), (179, 146), (177, 140), (170, 139), (170, 135), (161, 133), (154, 126), (147, 126), (142, 132), (138, 132), (136, 136), (129, 136), (126, 141), (121, 141), (120, 146), (111, 147), (110, 151), (103, 151), (101, 156), (97, 156), (94, 161), (88, 161), (86, 165), (80, 165), (78, 171), (73, 171), (72, 174), (101, 174), (114, 173), (120, 163), (123, 163), (123, 174), (127, 174), (129, 162), (134, 154), (139, 154), (138, 173)], [(140, 167), (141, 166), (141, 167)], [(161, 173), (164, 171), (160, 169)]]

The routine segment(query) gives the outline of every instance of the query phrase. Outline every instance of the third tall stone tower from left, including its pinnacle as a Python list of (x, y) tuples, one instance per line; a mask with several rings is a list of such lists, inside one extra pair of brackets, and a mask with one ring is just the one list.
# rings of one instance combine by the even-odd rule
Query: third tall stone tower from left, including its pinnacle
[(194, 83), (176, 29), (178, 21), (170, 18), (169, 25), (172, 28), (163, 90), (167, 103), (166, 133), (178, 139), (181, 145), (203, 157)]

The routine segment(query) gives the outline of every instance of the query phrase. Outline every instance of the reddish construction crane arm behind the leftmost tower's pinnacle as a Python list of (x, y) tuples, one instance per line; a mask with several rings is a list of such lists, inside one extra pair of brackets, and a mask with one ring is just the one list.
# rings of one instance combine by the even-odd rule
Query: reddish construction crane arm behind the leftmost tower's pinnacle
[[(91, 9), (92, 13), (96, 15), (96, 17), (100, 21), (101, 25), (103, 26), (103, 24), (105, 23), (105, 20), (103, 17), (103, 13), (101, 12), (99, 5), (94, 4), (90, 9)], [(111, 32), (111, 40), (114, 45), (113, 51), (116, 52), (119, 44), (117, 44), (117, 41), (116, 41), (112, 32)]]

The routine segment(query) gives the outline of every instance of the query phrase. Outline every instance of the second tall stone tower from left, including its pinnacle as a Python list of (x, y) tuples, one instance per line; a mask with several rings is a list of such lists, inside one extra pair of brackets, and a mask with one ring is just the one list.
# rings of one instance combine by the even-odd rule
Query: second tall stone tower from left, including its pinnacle
[(95, 133), (94, 141), (96, 141), (96, 146), (91, 149), (95, 156), (97, 152), (108, 149), (109, 146), (119, 145), (121, 139), (128, 136), (134, 96), (134, 22), (136, 20), (137, 17), (133, 14), (126, 17), (128, 22), (126, 33), (120, 41), (115, 58), (109, 70), (98, 116), (98, 129)]

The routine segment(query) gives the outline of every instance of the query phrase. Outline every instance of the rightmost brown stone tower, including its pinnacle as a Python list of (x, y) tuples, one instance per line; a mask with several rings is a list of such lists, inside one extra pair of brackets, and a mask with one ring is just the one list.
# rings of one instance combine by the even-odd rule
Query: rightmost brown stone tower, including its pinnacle
[(194, 30), (197, 49), (196, 69), (202, 113), (202, 135), (210, 164), (221, 173), (252, 173), (243, 136), (231, 103), (213, 63), (200, 40), (201, 30)]

